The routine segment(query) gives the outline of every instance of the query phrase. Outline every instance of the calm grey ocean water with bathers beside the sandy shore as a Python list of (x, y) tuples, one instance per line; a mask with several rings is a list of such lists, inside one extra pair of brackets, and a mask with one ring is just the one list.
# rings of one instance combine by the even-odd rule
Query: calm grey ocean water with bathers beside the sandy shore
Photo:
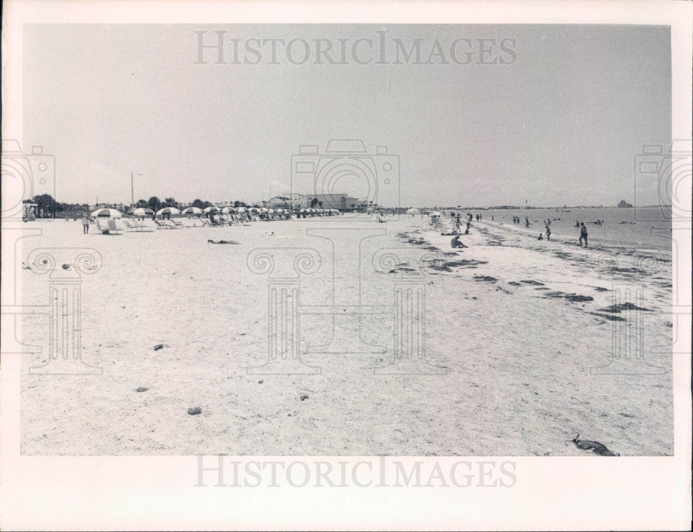
[[(470, 211), (476, 215), (476, 211)], [(551, 237), (557, 240), (578, 240), (580, 229), (575, 222), (584, 222), (588, 231), (588, 242), (605, 248), (672, 249), (672, 218), (670, 211), (658, 208), (638, 209), (518, 209), (517, 211), (478, 211), (483, 220), (509, 225), (516, 231), (525, 231), (534, 236), (545, 233), (543, 220), (551, 220)], [(513, 224), (517, 215), (521, 224)], [(525, 216), (529, 218), (529, 229), (525, 228)], [(603, 225), (595, 224), (604, 220)], [(544, 238), (546, 238), (544, 236)]]

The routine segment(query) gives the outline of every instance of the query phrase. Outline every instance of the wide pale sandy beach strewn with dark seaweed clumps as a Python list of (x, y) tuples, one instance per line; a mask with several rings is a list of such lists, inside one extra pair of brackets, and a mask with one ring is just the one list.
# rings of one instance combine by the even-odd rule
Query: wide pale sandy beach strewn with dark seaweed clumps
[[(538, 241), (486, 220), (451, 249), (423, 216), (361, 224), (370, 238), (326, 238), (345, 227), (328, 218), (86, 236), (79, 222), (34, 223), (42, 235), (24, 240), (29, 268), (39, 247), (103, 257), (81, 279), (82, 358), (103, 371), (30, 373), (47, 360), (49, 326), (24, 317), (24, 341), (43, 352), (24, 357), (23, 454), (588, 454), (577, 434), (621, 456), (673, 452), (670, 253)], [(396, 280), (425, 278), (434, 374), (374, 371), (393, 356), (385, 312), (308, 315), (301, 358), (321, 373), (249, 374), (267, 360), (268, 314), (267, 275), (247, 258), (275, 247), (319, 254), (301, 304), (391, 308)], [(374, 267), (370, 257), (393, 248), (414, 258)], [(360, 249), (356, 262), (345, 249)], [(419, 252), (430, 254), (420, 269)], [(24, 305), (46, 305), (47, 276), (25, 269), (22, 282)], [(610, 308), (615, 290), (641, 287), (647, 310)], [(609, 366), (615, 324), (626, 337), (642, 328), (644, 351)]]

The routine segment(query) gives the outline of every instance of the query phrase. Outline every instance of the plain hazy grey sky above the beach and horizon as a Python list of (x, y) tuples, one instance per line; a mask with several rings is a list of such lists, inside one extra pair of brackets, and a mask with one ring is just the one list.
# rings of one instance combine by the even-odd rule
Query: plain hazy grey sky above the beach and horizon
[[(222, 35), (223, 62), (199, 61), (200, 35)], [(273, 58), (267, 39), (292, 47)], [(25, 151), (55, 156), (61, 202), (129, 203), (134, 172), (136, 201), (255, 202), (292, 183), (383, 206), (656, 204), (634, 163), (671, 145), (667, 26), (33, 24), (23, 91)], [(331, 139), (365, 153), (330, 170)], [(318, 148), (292, 159), (300, 145)], [(292, 177), (297, 160), (313, 173)]]

